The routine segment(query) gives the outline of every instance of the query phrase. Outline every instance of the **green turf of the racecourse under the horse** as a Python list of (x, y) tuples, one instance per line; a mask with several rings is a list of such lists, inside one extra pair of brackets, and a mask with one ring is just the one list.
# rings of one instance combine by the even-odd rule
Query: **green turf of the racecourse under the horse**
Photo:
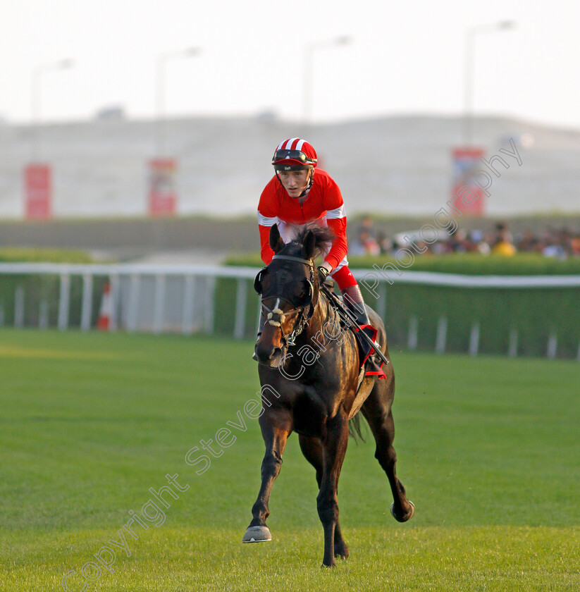
[(135, 526), (130, 557), (116, 549), (114, 573), (87, 591), (580, 588), (580, 364), (392, 352), (397, 469), (417, 512), (390, 517), (370, 439), (351, 441), (339, 496), (351, 556), (328, 572), (295, 436), (271, 543), (240, 543), (259, 488), (257, 421), (246, 417), (204, 474), (185, 463), (258, 390), (251, 351), (219, 338), (0, 331), (0, 590), (62, 590), (175, 473), (189, 488), (164, 524)]

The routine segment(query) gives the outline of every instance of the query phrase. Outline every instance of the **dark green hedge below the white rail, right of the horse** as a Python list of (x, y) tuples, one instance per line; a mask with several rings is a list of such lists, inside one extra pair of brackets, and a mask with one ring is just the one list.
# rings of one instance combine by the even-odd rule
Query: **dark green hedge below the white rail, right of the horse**
[(393, 284), (385, 304), (364, 290), (371, 307), (385, 307), (391, 347), (405, 349), (412, 317), (419, 350), (435, 349), (437, 324), (448, 319), (446, 350), (467, 352), (471, 326), (479, 323), (479, 352), (507, 354), (510, 331), (518, 333), (518, 354), (545, 356), (548, 335), (557, 335), (558, 357), (573, 358), (580, 341), (580, 288), (446, 288)]

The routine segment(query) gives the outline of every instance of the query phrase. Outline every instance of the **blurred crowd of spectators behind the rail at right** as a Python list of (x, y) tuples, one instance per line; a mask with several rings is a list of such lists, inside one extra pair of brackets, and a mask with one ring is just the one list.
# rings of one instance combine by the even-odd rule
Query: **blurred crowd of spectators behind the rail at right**
[[(512, 257), (518, 252), (526, 252), (558, 259), (580, 257), (580, 230), (569, 228), (546, 229), (540, 234), (531, 230), (512, 234), (507, 223), (498, 222), (488, 231), (457, 228), (448, 233), (440, 230), (437, 237), (433, 235), (429, 240), (431, 244), (419, 240), (418, 231), (407, 235), (414, 239), (414, 252), (422, 254), (480, 253)], [(401, 235), (391, 237), (377, 230), (373, 219), (366, 216), (357, 228), (356, 237), (349, 242), (349, 254), (395, 254), (402, 247), (409, 248), (407, 240)]]

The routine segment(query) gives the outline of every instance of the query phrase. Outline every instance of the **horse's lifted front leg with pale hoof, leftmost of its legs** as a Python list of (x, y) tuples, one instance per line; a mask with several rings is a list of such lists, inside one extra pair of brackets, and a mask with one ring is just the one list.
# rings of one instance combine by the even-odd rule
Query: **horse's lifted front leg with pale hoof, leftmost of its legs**
[(242, 538), (243, 543), (270, 541), (272, 536), (266, 519), (270, 515), (269, 500), (274, 479), (280, 473), (286, 440), (292, 431), (292, 416), (285, 409), (265, 409), (259, 424), (266, 444), (266, 454), (261, 464), (261, 486), (258, 498), (252, 507), (252, 522)]

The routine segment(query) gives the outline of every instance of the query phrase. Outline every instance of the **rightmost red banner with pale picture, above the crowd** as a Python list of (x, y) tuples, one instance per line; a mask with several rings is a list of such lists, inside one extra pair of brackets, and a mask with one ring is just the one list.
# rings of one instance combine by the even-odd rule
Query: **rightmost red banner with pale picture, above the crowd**
[(453, 206), (462, 214), (482, 216), (486, 209), (486, 195), (476, 175), (481, 170), (482, 148), (453, 149)]

